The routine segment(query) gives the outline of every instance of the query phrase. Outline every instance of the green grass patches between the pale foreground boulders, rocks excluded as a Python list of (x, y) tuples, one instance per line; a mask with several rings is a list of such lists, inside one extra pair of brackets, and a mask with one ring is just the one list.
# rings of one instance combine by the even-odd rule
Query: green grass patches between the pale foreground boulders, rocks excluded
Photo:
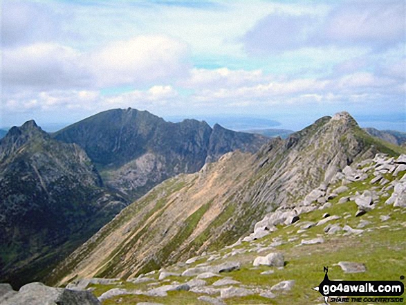
[[(406, 172), (400, 172), (396, 178), (402, 177)], [(393, 177), (387, 176), (387, 178)], [(324, 210), (315, 210), (308, 214), (302, 214), (300, 222), (303, 221), (318, 221), (322, 219), (322, 214), (329, 213), (331, 215), (340, 215), (341, 219), (332, 221), (341, 226), (350, 225), (351, 228), (356, 228), (361, 219), (370, 221), (371, 223), (363, 228), (365, 231), (360, 235), (345, 235), (342, 232), (338, 234), (325, 234), (324, 227), (321, 225), (313, 227), (302, 234), (297, 234), (299, 229), (296, 225), (280, 226), (279, 230), (272, 234), (253, 241), (252, 243), (243, 243), (233, 249), (222, 249), (216, 252), (211, 252), (206, 256), (201, 257), (199, 261), (192, 264), (201, 264), (207, 260), (210, 255), (219, 254), (221, 256), (230, 255), (234, 250), (246, 250), (242, 254), (232, 256), (232, 260), (242, 262), (241, 270), (233, 271), (228, 274), (233, 279), (240, 281), (242, 286), (270, 288), (279, 281), (294, 279), (296, 281), (292, 290), (286, 293), (277, 293), (275, 299), (266, 299), (258, 295), (225, 299), (226, 304), (321, 304), (322, 299), (319, 293), (311, 289), (313, 286), (320, 284), (323, 278), (323, 266), (329, 266), (330, 279), (347, 279), (347, 280), (398, 280), (400, 275), (405, 275), (406, 270), (406, 209), (385, 205), (387, 197), (381, 197), (377, 203), (376, 209), (367, 214), (356, 218), (357, 207), (353, 202), (338, 204), (338, 201), (343, 196), (355, 194), (356, 191), (369, 189), (370, 179), (367, 181), (351, 183), (348, 192), (340, 194), (340, 196), (332, 199), (332, 207)], [(389, 192), (390, 195), (391, 192)], [(382, 222), (380, 216), (389, 215), (388, 221)], [(311, 239), (322, 236), (325, 239), (324, 243), (298, 246), (302, 239)], [(297, 237), (297, 240), (288, 242), (288, 239)], [(284, 244), (277, 246), (275, 250), (268, 250), (258, 254), (255, 251), (257, 248), (268, 246), (275, 240), (282, 240)], [(248, 252), (248, 250), (253, 250)], [(266, 255), (268, 252), (283, 252), (285, 255), (286, 266), (283, 270), (274, 268), (275, 272), (272, 275), (261, 275), (264, 270), (270, 270), (269, 267), (261, 266), (260, 268), (252, 268), (252, 261), (258, 255)], [(227, 261), (229, 259), (222, 259)], [(362, 262), (367, 267), (367, 272), (345, 274), (339, 266), (336, 266), (339, 261), (356, 261)], [(220, 261), (215, 261), (211, 264), (219, 264)], [(190, 266), (188, 266), (190, 267)], [(167, 268), (176, 272), (181, 272), (185, 269), (172, 266)], [(154, 275), (155, 278), (158, 275)], [(161, 284), (170, 284), (171, 281), (185, 282), (191, 278), (185, 277), (169, 277)], [(207, 279), (207, 284), (212, 284), (216, 279)], [(145, 289), (147, 284), (131, 284), (123, 282), (120, 286), (103, 286), (94, 285), (95, 294), (101, 295), (105, 291), (113, 287)], [(172, 292), (168, 297), (146, 297), (145, 295), (124, 295), (108, 299), (103, 302), (104, 305), (116, 304), (136, 304), (137, 302), (159, 302), (162, 304), (205, 304), (197, 300), (199, 295), (191, 292)], [(403, 295), (405, 297), (405, 295)], [(120, 301), (119, 301), (120, 300)], [(351, 304), (351, 303), (347, 303)], [(360, 304), (360, 303), (358, 303)]]

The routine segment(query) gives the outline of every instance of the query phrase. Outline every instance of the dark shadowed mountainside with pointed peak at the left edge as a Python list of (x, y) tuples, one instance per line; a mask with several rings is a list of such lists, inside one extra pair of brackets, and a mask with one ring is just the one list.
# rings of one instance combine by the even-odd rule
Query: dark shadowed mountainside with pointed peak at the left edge
[(28, 121), (0, 140), (0, 279), (15, 286), (48, 268), (123, 207), (86, 153)]

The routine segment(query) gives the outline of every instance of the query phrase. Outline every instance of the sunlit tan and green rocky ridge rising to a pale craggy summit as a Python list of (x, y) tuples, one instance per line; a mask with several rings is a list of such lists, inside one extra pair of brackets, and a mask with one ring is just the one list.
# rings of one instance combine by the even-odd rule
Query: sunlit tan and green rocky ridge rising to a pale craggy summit
[(221, 248), (280, 206), (308, 205), (315, 187), (377, 152), (400, 147), (362, 131), (348, 113), (317, 120), (255, 155), (229, 153), (199, 173), (165, 181), (140, 198), (58, 266), (50, 282), (75, 277), (131, 279), (194, 253)]

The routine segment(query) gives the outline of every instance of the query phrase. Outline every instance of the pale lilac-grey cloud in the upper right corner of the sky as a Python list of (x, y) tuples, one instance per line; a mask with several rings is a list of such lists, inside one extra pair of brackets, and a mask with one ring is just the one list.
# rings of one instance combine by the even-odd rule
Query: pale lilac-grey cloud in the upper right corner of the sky
[(405, 22), (404, 1), (344, 1), (324, 16), (273, 12), (242, 40), (251, 55), (326, 45), (389, 48), (405, 38)]

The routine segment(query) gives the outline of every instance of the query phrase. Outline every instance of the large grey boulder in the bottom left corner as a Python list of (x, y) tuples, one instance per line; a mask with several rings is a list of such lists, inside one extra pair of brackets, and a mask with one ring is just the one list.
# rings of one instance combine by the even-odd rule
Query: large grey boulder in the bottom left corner
[(53, 288), (41, 283), (22, 286), (18, 293), (6, 291), (9, 297), (3, 299), (1, 305), (101, 305), (90, 291)]

